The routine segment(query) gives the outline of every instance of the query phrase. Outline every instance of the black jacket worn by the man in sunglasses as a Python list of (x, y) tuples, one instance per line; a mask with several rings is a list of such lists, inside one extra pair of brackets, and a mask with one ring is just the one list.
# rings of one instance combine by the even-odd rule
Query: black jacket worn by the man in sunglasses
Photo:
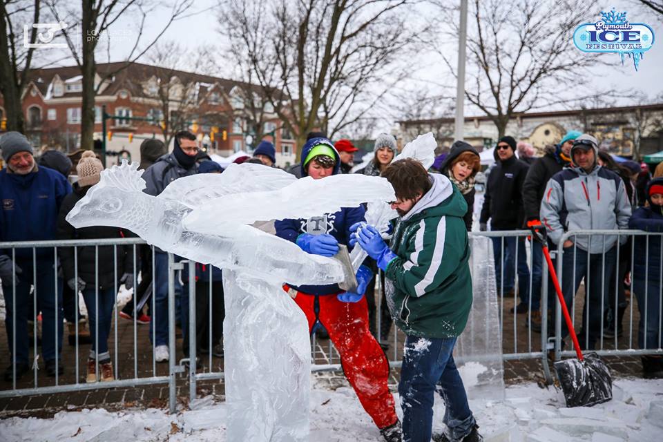
[(523, 182), (528, 165), (515, 155), (506, 161), (497, 160), (486, 184), (483, 209), (479, 222), (488, 222), (492, 230), (517, 230), (525, 223)]

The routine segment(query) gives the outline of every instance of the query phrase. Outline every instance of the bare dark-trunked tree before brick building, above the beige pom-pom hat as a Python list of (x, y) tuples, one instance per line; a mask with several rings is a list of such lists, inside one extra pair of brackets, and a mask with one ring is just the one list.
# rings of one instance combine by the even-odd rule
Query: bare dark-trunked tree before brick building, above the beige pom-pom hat
[[(82, 103), (81, 103), (81, 147), (87, 148), (93, 145), (93, 133), (95, 130), (95, 97), (100, 88), (104, 85), (104, 81), (117, 75), (120, 70), (123, 70), (133, 64), (137, 59), (142, 57), (166, 32), (171, 24), (177, 20), (185, 17), (187, 10), (193, 5), (193, 0), (175, 0), (171, 6), (169, 19), (166, 19), (160, 32), (151, 39), (147, 44), (141, 46), (143, 40), (143, 31), (145, 21), (149, 14), (153, 13), (158, 7), (158, 2), (151, 0), (82, 0), (80, 8), (72, 8), (72, 3), (66, 0), (51, 0), (49, 7), (52, 14), (57, 20), (60, 17), (68, 17), (70, 21), (81, 23), (81, 48), (75, 42), (75, 35), (67, 29), (63, 30), (67, 39), (68, 46), (71, 50), (73, 58), (75, 59), (79, 68), (81, 68), (82, 78)], [(97, 75), (97, 61), (96, 51), (99, 41), (104, 41), (103, 37), (106, 35), (108, 42), (108, 56), (110, 57), (110, 37), (108, 31), (114, 23), (121, 17), (132, 15), (139, 20), (137, 27), (137, 37), (129, 49), (128, 55), (124, 59), (124, 63), (117, 69), (111, 70), (99, 75), (100, 79), (95, 84), (95, 76)], [(109, 60), (110, 61), (110, 60)]]

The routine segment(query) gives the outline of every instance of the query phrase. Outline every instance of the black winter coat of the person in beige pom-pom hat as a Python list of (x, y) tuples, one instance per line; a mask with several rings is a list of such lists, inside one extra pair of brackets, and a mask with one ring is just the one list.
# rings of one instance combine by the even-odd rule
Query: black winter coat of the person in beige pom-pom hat
[[(85, 196), (90, 186), (83, 188), (74, 184), (74, 191), (67, 195), (62, 201), (57, 219), (57, 238), (59, 240), (90, 240), (100, 238), (124, 238), (133, 236), (128, 231), (119, 227), (83, 227), (76, 229), (65, 219), (67, 213), (73, 206)], [(95, 247), (78, 247), (78, 276), (86, 282), (86, 288), (95, 286)], [(136, 247), (136, 258), (140, 250)], [(58, 249), (65, 283), (74, 277), (74, 248), (60, 247)], [(99, 247), (99, 289), (113, 287), (115, 285), (115, 269), (113, 268), (113, 246)], [(117, 279), (122, 278), (123, 273), (133, 273), (133, 246), (117, 246)]]

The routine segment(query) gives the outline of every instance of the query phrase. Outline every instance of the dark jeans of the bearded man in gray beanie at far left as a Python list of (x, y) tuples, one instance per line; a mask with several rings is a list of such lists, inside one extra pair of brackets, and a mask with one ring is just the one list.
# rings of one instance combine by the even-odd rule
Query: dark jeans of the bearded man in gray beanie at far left
[[(17, 258), (16, 265), (21, 267), (23, 273), (19, 274), (19, 283), (16, 285), (16, 305), (14, 305), (14, 289), (12, 284), (2, 285), (7, 306), (5, 327), (9, 342), (9, 352), (13, 355), (14, 327), (16, 327), (16, 363), (28, 363), (28, 318), (32, 317), (33, 299), (30, 287), (35, 280), (35, 269), (32, 268), (32, 258), (22, 260)], [(37, 314), (41, 311), (41, 356), (44, 361), (55, 360), (55, 355), (62, 351), (62, 280), (54, 273), (54, 260), (52, 258), (37, 259), (36, 269), (37, 287)], [(14, 315), (16, 314), (16, 323)], [(56, 331), (57, 327), (57, 331)], [(13, 362), (12, 356), (10, 361)], [(61, 359), (59, 365), (61, 366)]]

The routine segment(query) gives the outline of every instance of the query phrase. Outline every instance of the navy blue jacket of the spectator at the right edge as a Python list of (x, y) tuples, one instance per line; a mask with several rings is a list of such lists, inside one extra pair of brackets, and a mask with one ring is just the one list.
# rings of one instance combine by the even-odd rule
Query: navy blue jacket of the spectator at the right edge
[[(662, 185), (663, 178), (654, 178), (647, 185), (647, 200), (649, 207), (638, 207), (631, 219), (628, 220), (629, 229), (644, 230), (646, 232), (663, 232), (663, 206), (652, 204), (649, 198), (649, 187), (653, 184)], [(648, 238), (648, 239), (647, 239)], [(647, 247), (647, 241), (649, 245)], [(648, 267), (648, 270), (647, 270)], [(661, 236), (635, 236), (633, 245), (633, 278), (658, 281), (661, 276)]]

